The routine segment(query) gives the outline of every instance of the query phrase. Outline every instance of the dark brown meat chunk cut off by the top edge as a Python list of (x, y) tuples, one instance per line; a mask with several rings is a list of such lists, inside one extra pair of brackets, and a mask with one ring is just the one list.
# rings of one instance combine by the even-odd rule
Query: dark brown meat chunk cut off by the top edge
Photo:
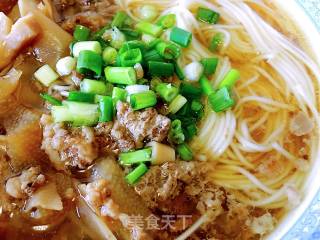
[(113, 0), (53, 0), (58, 23), (72, 33), (76, 24), (96, 31), (112, 18), (118, 6)]

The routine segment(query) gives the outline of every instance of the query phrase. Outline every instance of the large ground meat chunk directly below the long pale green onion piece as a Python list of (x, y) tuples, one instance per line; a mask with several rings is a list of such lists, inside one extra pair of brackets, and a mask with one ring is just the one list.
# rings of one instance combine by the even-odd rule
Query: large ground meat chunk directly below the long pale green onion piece
[(53, 123), (48, 115), (41, 117), (43, 127), (42, 149), (57, 169), (65, 165), (84, 169), (98, 157), (98, 147), (92, 128), (68, 129), (61, 123)]

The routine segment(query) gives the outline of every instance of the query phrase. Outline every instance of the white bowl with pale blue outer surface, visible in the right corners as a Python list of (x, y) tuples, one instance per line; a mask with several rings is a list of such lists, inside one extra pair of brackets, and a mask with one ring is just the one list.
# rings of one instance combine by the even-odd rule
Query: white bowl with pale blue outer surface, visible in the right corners
[[(320, 18), (320, 0), (272, 0), (298, 28), (299, 43), (320, 66), (320, 33), (310, 16)], [(304, 8), (309, 7), (308, 9)], [(310, 8), (316, 9), (310, 9)], [(320, 27), (320, 22), (317, 22)], [(301, 34), (300, 34), (301, 33)], [(319, 148), (320, 149), (320, 142)], [(269, 240), (320, 239), (320, 154), (313, 159), (301, 204), (279, 223)], [(318, 228), (318, 230), (317, 230)]]

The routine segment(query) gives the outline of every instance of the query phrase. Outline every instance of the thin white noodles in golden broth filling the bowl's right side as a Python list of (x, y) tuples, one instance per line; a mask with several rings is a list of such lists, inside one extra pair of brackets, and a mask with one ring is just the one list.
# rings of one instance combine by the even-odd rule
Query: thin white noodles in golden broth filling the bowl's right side
[[(143, 4), (159, 4), (118, 2), (135, 19)], [(198, 6), (219, 12), (221, 24), (198, 22), (194, 17)], [(319, 67), (276, 30), (282, 30), (281, 17), (262, 1), (172, 0), (161, 1), (159, 9), (164, 10), (162, 15), (174, 13), (178, 27), (194, 33), (191, 47), (180, 60), (182, 66), (218, 57), (220, 63), (211, 79), (214, 87), (231, 65), (241, 71), (234, 90), (235, 109), (219, 114), (207, 109), (192, 143), (199, 160), (215, 165), (208, 178), (248, 208), (282, 216), (299, 204), (306, 171), (319, 156)], [(216, 33), (224, 38), (218, 56), (208, 51)], [(291, 127), (298, 118), (299, 126), (305, 125), (302, 134)], [(194, 226), (207, 220), (204, 215)], [(179, 239), (186, 239), (197, 227)]]

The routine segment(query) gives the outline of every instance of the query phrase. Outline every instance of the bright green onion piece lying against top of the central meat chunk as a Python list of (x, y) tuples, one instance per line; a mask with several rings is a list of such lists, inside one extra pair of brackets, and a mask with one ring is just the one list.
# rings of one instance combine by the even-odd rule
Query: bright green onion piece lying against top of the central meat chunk
[(157, 104), (157, 95), (153, 91), (146, 91), (130, 95), (130, 104), (133, 110), (153, 107)]

